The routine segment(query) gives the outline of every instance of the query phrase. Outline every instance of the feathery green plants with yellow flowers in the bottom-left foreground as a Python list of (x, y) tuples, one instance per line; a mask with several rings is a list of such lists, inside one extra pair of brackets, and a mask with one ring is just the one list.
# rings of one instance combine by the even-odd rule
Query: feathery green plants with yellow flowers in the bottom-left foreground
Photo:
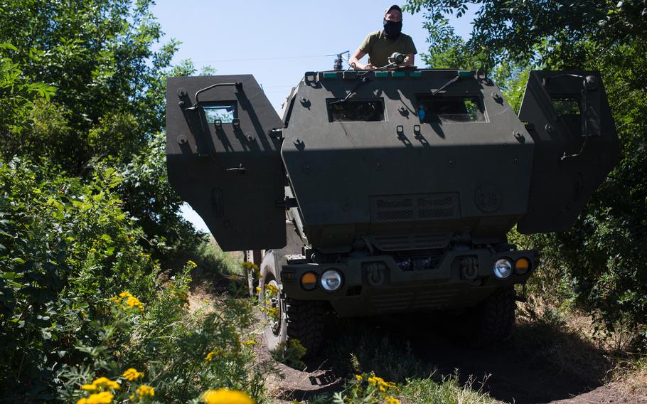
[[(60, 371), (60, 398), (87, 397), (80, 386), (107, 376), (121, 384), (113, 392), (118, 403), (132, 401), (133, 394), (137, 398), (141, 384), (165, 402), (186, 403), (212, 387), (242, 390), (260, 402), (266, 365), (255, 363), (252, 344), (240, 341), (241, 331), (252, 324), (252, 306), (228, 299), (218, 312), (190, 314), (186, 296), (192, 269), (189, 263), (159, 285), (156, 299), (142, 309), (124, 303), (132, 297), (113, 297), (104, 322), (96, 324), (98, 343), (77, 341), (75, 349), (87, 353), (87, 361)], [(127, 381), (129, 368), (143, 374)]]

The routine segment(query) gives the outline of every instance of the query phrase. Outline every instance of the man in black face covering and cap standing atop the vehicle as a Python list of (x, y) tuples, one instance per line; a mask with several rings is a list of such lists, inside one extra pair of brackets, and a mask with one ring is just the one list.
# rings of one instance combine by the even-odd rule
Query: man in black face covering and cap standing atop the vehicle
[[(412, 38), (402, 33), (402, 9), (397, 4), (386, 9), (384, 29), (369, 33), (348, 63), (356, 70), (372, 70), (387, 65), (389, 56), (394, 52), (407, 55), (401, 65), (413, 65), (417, 50)], [(360, 59), (366, 53), (368, 53), (368, 64), (363, 65)]]

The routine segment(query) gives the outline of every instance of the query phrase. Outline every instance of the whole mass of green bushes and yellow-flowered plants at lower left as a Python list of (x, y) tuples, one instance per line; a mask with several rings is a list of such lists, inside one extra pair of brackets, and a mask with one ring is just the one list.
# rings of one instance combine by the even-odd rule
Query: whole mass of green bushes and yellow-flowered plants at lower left
[[(240, 341), (250, 304), (231, 299), (217, 312), (191, 314), (196, 264), (159, 276), (143, 231), (114, 193), (122, 176), (97, 168), (83, 183), (46, 166), (0, 161), (3, 397), (69, 401), (105, 376), (137, 398), (139, 378), (120, 376), (134, 368), (164, 400), (186, 402), (210, 387), (262, 398), (262, 368), (252, 369), (252, 343)], [(97, 391), (106, 389), (101, 383)]]

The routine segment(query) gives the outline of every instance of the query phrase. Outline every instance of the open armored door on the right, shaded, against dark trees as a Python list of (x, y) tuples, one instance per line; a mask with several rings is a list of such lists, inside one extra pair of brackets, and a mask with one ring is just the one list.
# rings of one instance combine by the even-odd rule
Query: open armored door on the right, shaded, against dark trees
[(533, 71), (519, 119), (535, 142), (520, 233), (570, 228), (613, 169), (618, 137), (599, 72)]

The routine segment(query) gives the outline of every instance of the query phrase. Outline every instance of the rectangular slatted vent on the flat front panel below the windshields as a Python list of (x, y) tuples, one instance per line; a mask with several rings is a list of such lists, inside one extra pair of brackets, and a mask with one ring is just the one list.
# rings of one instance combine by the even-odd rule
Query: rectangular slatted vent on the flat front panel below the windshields
[(459, 194), (371, 196), (370, 217), (373, 223), (459, 218)]

